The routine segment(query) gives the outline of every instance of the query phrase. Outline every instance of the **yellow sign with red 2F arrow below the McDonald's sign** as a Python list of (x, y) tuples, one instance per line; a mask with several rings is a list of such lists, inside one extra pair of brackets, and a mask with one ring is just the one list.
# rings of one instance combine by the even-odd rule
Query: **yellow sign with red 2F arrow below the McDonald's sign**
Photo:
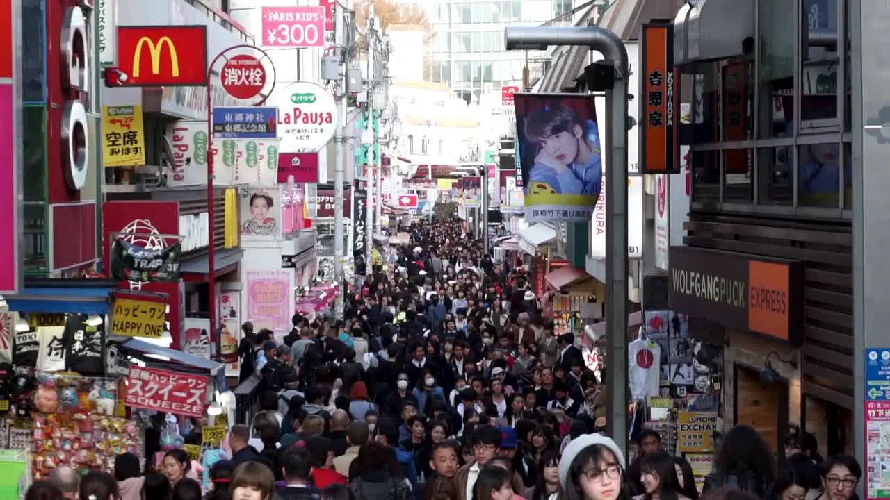
[(145, 165), (142, 106), (102, 106), (102, 135), (105, 166)]

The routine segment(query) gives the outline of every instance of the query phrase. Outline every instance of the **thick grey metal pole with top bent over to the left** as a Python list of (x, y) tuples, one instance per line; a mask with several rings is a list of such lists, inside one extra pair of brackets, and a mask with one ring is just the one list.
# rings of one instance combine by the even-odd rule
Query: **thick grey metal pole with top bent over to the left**
[[(602, 52), (617, 75), (606, 90), (606, 429), (627, 452), (627, 49), (619, 36), (598, 26), (506, 28), (506, 50), (546, 50), (550, 45), (578, 45)], [(591, 96), (593, 99), (593, 96)]]

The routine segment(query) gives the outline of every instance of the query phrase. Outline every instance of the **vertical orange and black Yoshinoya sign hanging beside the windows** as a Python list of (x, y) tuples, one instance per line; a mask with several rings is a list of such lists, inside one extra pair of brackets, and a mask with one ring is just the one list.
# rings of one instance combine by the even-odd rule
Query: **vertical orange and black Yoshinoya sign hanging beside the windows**
[(679, 173), (676, 149), (674, 27), (643, 25), (640, 89), (640, 173)]

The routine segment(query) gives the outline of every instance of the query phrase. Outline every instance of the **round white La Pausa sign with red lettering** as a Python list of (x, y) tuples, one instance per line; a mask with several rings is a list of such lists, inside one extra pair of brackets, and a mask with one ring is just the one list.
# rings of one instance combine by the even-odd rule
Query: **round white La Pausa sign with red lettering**
[(266, 106), (279, 109), (280, 153), (314, 153), (334, 137), (338, 120), (336, 101), (320, 85), (296, 82), (276, 88)]

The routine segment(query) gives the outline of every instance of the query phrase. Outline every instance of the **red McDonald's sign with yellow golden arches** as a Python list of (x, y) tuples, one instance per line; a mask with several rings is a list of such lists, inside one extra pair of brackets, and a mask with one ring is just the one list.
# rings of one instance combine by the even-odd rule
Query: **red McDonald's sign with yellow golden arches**
[(207, 28), (118, 27), (117, 69), (125, 86), (207, 85)]

